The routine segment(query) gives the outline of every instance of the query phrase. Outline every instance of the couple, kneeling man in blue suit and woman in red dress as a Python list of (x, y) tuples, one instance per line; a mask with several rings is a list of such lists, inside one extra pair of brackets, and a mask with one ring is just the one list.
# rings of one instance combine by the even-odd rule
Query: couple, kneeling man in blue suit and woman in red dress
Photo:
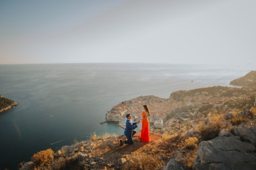
[[(140, 140), (143, 143), (147, 143), (150, 141), (149, 138), (149, 123), (148, 123), (148, 117), (150, 116), (150, 110), (148, 108), (147, 105), (143, 106), (143, 112), (141, 113), (142, 116), (142, 127), (141, 127), (141, 135), (140, 135)], [(140, 124), (140, 121), (132, 123), (132, 116), (130, 114), (126, 115), (126, 127), (124, 130), (124, 134), (127, 137), (127, 141), (124, 140), (120, 140), (120, 145), (123, 146), (124, 144), (129, 144), (132, 145), (133, 144), (133, 139), (132, 136), (136, 133), (136, 131), (134, 131), (134, 129), (136, 129), (136, 127), (138, 127), (138, 124)]]

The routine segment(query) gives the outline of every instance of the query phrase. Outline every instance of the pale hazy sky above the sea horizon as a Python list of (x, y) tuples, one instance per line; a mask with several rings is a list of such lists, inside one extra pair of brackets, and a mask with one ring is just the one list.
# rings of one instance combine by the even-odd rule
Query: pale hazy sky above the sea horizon
[(0, 0), (0, 64), (256, 63), (255, 0)]

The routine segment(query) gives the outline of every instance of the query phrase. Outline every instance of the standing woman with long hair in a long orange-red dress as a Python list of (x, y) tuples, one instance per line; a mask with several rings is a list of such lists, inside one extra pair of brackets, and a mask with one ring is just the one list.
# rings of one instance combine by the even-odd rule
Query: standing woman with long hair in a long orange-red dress
[(141, 113), (142, 116), (142, 128), (141, 128), (141, 134), (140, 134), (140, 140), (143, 143), (149, 142), (149, 123), (148, 123), (148, 117), (150, 116), (150, 110), (147, 105), (143, 106), (143, 112)]

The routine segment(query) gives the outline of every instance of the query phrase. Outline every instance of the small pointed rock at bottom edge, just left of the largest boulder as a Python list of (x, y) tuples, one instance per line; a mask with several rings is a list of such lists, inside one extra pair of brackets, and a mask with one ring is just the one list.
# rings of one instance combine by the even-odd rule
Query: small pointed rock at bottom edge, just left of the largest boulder
[(181, 164), (185, 160), (182, 150), (173, 153), (173, 157), (169, 160), (164, 170), (192, 170), (190, 167), (185, 167)]

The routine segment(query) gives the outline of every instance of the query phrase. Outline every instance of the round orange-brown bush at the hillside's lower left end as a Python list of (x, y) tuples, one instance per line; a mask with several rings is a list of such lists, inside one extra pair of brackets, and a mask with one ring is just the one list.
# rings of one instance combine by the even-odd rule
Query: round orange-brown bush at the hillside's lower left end
[(40, 166), (44, 164), (49, 164), (53, 161), (53, 151), (51, 149), (43, 150), (38, 153), (35, 153), (33, 157), (31, 157), (31, 162), (35, 164), (35, 166)]

